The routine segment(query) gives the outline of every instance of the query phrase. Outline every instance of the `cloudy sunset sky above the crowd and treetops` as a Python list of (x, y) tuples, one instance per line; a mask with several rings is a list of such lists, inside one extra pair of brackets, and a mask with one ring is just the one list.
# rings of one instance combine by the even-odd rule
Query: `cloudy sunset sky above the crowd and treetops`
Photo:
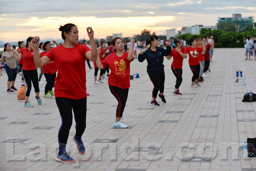
[(0, 4), (0, 41), (4, 42), (29, 36), (61, 39), (58, 28), (67, 23), (78, 27), (79, 39), (89, 39), (87, 27), (100, 39), (118, 33), (132, 37), (143, 29), (165, 35), (168, 29), (216, 26), (218, 17), (231, 17), (232, 13), (256, 17), (255, 0), (0, 0)]

